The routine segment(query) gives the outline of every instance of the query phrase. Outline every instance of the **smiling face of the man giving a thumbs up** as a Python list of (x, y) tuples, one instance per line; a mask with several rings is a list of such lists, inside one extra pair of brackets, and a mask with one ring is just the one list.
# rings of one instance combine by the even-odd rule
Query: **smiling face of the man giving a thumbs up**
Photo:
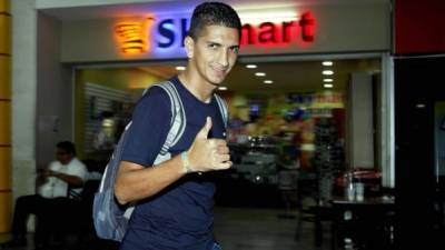
[(199, 77), (212, 84), (220, 84), (238, 57), (239, 33), (237, 29), (207, 26), (196, 40), (189, 39), (190, 62)]

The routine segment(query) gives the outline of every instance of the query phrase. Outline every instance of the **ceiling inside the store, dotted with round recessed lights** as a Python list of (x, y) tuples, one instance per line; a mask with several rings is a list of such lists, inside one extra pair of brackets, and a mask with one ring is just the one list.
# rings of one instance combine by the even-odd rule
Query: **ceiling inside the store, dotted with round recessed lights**
[[(332, 60), (330, 67), (322, 64), (322, 60), (255, 62), (256, 69), (247, 69), (246, 62), (238, 62), (224, 86), (230, 91), (315, 91), (324, 89), (324, 78), (334, 80), (334, 89), (345, 89), (352, 73), (379, 73), (379, 59), (342, 59)], [(251, 62), (254, 63), (254, 62)], [(175, 64), (138, 67), (160, 79), (178, 73)], [(323, 70), (330, 69), (334, 74), (324, 77)], [(255, 72), (265, 72), (266, 77), (256, 77)], [(263, 83), (273, 80), (274, 83)]]

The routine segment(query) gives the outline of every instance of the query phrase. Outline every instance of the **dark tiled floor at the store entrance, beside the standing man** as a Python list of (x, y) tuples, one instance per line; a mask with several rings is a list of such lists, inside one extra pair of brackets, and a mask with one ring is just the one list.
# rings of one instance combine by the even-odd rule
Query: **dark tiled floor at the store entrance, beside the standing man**
[[(224, 250), (329, 249), (328, 226), (325, 227), (320, 248), (316, 248), (314, 244), (314, 224), (310, 222), (303, 224), (300, 240), (295, 240), (296, 211), (264, 208), (216, 208), (215, 216), (215, 234)], [(29, 238), (32, 236), (30, 234)], [(0, 234), (0, 242), (8, 239), (8, 234)], [(32, 247), (27, 247), (4, 250), (32, 249)]]

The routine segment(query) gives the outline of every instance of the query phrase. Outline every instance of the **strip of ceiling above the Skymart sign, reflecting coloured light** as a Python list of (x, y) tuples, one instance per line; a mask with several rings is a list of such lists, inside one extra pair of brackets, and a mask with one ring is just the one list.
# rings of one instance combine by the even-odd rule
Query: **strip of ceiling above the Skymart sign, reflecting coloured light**
[[(53, 1), (40, 0), (37, 8), (39, 11), (49, 14), (61, 21), (123, 18), (155, 12), (158, 14), (171, 11), (191, 12), (194, 7), (204, 0), (115, 0), (96, 1), (89, 0), (82, 7), (76, 1)], [(293, 8), (298, 6), (319, 6), (319, 4), (355, 4), (366, 7), (375, 3), (389, 3), (390, 0), (222, 0), (233, 6), (237, 11), (251, 11), (256, 9), (269, 8)], [(120, 3), (118, 3), (120, 2)], [(127, 2), (127, 3), (125, 3)], [(253, 4), (255, 3), (255, 4)]]

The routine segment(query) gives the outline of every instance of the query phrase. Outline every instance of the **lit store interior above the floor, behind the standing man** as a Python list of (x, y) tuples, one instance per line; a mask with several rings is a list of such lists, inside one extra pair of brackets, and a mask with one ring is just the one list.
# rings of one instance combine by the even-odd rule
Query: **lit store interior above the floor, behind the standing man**
[[(327, 200), (340, 191), (335, 189), (336, 178), (350, 168), (379, 171), (374, 163), (377, 139), (365, 140), (372, 143), (370, 167), (352, 162), (349, 154), (355, 152), (348, 139), (354, 76), (369, 76), (367, 84), (378, 86), (379, 58), (246, 61), (241, 58), (217, 90), (229, 106), (227, 140), (234, 161), (218, 179), (222, 188), (217, 203), (290, 207), (295, 201), (284, 199), (283, 191), (295, 189), (294, 179), (305, 174), (320, 180), (318, 196)], [(184, 67), (184, 61), (171, 61), (78, 69), (75, 120), (80, 157), (107, 161), (142, 91)], [(375, 87), (368, 90), (375, 92)], [(377, 101), (370, 102), (375, 107)], [(373, 110), (365, 112), (375, 117)], [(243, 191), (234, 196), (236, 186)]]

